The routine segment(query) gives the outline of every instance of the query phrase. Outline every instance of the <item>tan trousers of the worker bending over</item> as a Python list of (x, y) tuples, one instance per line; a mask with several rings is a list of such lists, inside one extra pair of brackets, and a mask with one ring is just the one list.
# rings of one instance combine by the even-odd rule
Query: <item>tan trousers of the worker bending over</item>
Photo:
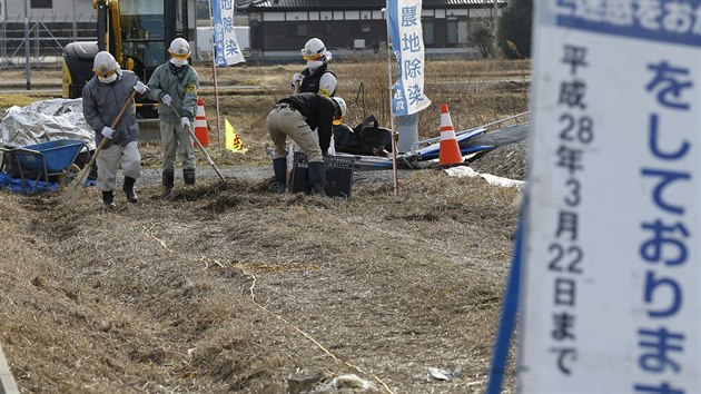
[(297, 142), (307, 156), (308, 162), (324, 161), (322, 148), (299, 111), (288, 107), (275, 106), (268, 115), (268, 134), (275, 146), (273, 159), (287, 156), (287, 137)]

